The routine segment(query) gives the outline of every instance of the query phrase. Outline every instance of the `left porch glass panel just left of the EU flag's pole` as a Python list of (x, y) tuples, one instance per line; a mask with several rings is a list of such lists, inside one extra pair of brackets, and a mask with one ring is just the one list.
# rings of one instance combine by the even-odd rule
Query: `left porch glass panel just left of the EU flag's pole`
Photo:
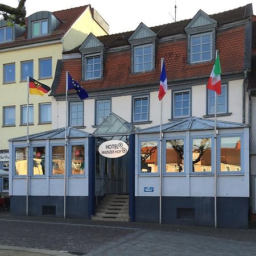
[(65, 172), (65, 147), (52, 147), (52, 175), (64, 175)]

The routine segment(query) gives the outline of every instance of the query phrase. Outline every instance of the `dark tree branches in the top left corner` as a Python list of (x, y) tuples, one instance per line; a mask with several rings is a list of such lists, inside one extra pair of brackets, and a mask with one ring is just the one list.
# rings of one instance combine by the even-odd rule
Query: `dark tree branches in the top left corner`
[(0, 15), (3, 19), (7, 20), (9, 24), (19, 24), (20, 26), (26, 25), (26, 0), (18, 0), (18, 7), (14, 8), (9, 5), (3, 5), (0, 3)]

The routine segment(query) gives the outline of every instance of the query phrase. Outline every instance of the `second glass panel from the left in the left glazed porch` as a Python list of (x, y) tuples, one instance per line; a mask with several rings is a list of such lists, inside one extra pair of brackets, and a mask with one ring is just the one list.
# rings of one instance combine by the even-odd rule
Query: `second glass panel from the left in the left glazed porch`
[(46, 147), (33, 147), (33, 175), (46, 174)]

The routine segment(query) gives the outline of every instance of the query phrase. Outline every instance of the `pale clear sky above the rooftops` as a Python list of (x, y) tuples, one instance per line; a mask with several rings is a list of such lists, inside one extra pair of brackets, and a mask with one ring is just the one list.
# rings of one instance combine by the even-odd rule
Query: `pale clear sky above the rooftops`
[[(0, 0), (11, 7), (18, 0)], [(256, 0), (27, 0), (27, 16), (36, 11), (59, 11), (72, 7), (91, 5), (109, 24), (110, 34), (135, 30), (141, 22), (148, 27), (193, 18), (200, 9), (207, 14), (221, 13), (253, 3), (256, 15)]]

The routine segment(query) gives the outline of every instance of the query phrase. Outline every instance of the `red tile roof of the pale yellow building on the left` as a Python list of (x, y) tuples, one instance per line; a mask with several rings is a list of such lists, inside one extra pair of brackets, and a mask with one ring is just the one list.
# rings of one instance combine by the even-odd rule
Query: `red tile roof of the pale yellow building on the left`
[(61, 24), (56, 28), (55, 31), (51, 33), (51, 35), (38, 38), (27, 38), (27, 31), (25, 31), (19, 36), (19, 38), (16, 38), (14, 42), (0, 44), (0, 49), (60, 39), (67, 33), (77, 18), (79, 18), (79, 16), (84, 13), (88, 6), (89, 5), (85, 5), (67, 10), (53, 11), (52, 14), (61, 21)]

